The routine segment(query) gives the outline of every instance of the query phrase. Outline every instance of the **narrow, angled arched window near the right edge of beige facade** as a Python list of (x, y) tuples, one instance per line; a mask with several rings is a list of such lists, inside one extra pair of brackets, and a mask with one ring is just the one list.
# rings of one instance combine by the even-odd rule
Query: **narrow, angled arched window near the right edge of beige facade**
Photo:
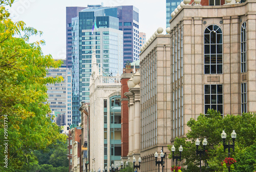
[(241, 73), (246, 72), (246, 22), (241, 27)]

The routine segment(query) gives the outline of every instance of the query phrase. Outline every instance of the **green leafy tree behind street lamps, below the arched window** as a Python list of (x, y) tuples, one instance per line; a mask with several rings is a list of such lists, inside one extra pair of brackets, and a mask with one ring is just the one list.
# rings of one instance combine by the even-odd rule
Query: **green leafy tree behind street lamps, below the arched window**
[[(231, 149), (231, 157), (236, 159), (236, 156), (243, 155), (242, 151), (252, 151), (251, 146), (256, 141), (256, 116), (253, 113), (244, 113), (243, 115), (227, 115), (224, 118), (214, 110), (209, 110), (208, 115), (201, 114), (197, 120), (190, 119), (187, 125), (190, 127), (190, 131), (187, 133), (186, 138), (176, 138), (175, 147), (176, 153), (178, 153), (178, 147), (182, 145), (183, 152), (182, 158), (186, 161), (184, 165), (187, 165), (185, 171), (199, 171), (199, 156), (196, 156), (195, 140), (200, 139), (201, 143), (204, 138), (207, 139), (208, 144), (206, 146), (207, 152), (202, 160), (206, 162), (208, 171), (224, 171), (224, 167), (221, 162), (228, 156), (227, 149), (224, 152), (222, 145), (221, 133), (224, 130), (227, 133), (226, 143), (231, 140), (231, 132), (233, 130), (237, 133), (235, 152)], [(201, 147), (200, 145), (199, 148)], [(169, 150), (172, 146), (168, 145)], [(253, 152), (251, 152), (253, 154)], [(169, 158), (172, 158), (170, 155)], [(247, 157), (248, 158), (248, 157)], [(248, 169), (253, 169), (253, 161), (243, 162), (241, 158), (237, 158), (237, 164), (234, 165), (235, 169), (238, 169), (239, 163), (250, 166)], [(202, 169), (206, 168), (204, 165)], [(243, 168), (245, 169), (245, 168)], [(243, 171), (243, 170), (241, 170)]]

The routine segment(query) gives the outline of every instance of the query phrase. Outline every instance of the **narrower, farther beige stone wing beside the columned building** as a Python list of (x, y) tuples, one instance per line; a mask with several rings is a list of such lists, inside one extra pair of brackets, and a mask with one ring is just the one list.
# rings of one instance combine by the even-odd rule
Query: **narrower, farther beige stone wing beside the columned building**
[[(163, 146), (164, 171), (170, 167), (170, 44), (169, 35), (157, 35), (140, 54), (141, 171), (156, 171), (154, 154)], [(159, 157), (160, 158), (160, 157)], [(160, 165), (162, 170), (162, 166)]]

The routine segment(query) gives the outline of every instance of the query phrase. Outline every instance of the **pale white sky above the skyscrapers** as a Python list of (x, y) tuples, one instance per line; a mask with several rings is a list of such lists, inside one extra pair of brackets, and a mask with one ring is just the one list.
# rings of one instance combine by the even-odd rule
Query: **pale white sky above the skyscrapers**
[(139, 9), (139, 31), (146, 33), (148, 39), (162, 27), (165, 30), (166, 0), (17, 0), (11, 8), (14, 21), (23, 20), (27, 26), (44, 32), (41, 37), (31, 40), (44, 39), (42, 47), (44, 54), (53, 58), (66, 58), (66, 7), (87, 5), (122, 6), (133, 5)]

